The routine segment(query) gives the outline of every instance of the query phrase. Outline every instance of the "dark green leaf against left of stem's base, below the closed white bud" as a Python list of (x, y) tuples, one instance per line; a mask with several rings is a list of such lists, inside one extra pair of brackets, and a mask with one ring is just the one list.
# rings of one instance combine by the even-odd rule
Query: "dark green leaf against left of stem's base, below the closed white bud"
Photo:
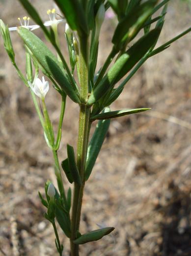
[(69, 214), (60, 210), (60, 208), (55, 204), (55, 217), (64, 234), (70, 238), (71, 229), (70, 229), (70, 216)]

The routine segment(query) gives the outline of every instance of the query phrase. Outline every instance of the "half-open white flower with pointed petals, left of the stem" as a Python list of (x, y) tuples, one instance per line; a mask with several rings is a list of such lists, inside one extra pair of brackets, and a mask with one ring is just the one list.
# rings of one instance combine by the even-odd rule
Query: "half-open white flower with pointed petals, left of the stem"
[(45, 81), (44, 76), (42, 77), (42, 81), (37, 77), (34, 79), (33, 83), (31, 84), (28, 81), (28, 84), (31, 90), (41, 99), (44, 99), (48, 90), (49, 90), (49, 82)]

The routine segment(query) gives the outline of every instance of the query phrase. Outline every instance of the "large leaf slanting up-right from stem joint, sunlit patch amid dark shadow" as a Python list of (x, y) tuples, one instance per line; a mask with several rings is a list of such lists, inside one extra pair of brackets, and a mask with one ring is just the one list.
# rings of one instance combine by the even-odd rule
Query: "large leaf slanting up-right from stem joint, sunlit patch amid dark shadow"
[(100, 83), (92, 89), (86, 105), (91, 106), (103, 97), (107, 91), (112, 90), (115, 83), (128, 73), (147, 53), (153, 43), (155, 43), (160, 32), (160, 29), (150, 31), (148, 34), (141, 37), (128, 51), (122, 54)]

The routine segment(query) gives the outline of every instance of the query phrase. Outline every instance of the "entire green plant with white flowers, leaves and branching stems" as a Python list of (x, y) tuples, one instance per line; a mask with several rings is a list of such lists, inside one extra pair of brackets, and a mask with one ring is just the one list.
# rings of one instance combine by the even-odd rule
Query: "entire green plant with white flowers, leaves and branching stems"
[[(49, 9), (47, 14), (50, 20), (46, 22), (42, 21), (37, 9), (28, 0), (19, 1), (36, 25), (29, 25), (27, 16), (23, 18), (24, 23), (21, 22), (19, 27), (13, 28), (8, 28), (0, 20), (0, 32), (13, 66), (31, 93), (45, 140), (54, 156), (58, 189), (53, 183), (46, 182), (46, 198), (39, 193), (42, 204), (47, 208), (45, 218), (53, 225), (58, 254), (62, 255), (64, 247), (60, 243), (56, 222), (70, 239), (71, 256), (79, 256), (80, 245), (99, 240), (114, 229), (102, 227), (85, 234), (80, 233), (84, 185), (91, 175), (105, 140), (110, 119), (149, 110), (140, 108), (111, 111), (109, 106), (119, 97), (125, 85), (147, 59), (166, 50), (171, 43), (189, 33), (191, 27), (156, 47), (170, 0), (54, 0), (61, 13), (59, 17), (63, 18), (56, 19), (55, 9)], [(103, 66), (97, 67), (100, 31), (108, 9), (112, 9), (115, 14), (117, 25), (111, 40), (112, 50)], [(160, 15), (157, 14), (159, 11)], [(58, 35), (58, 24), (65, 26), (69, 65), (60, 48), (60, 41), (64, 37)], [(57, 56), (35, 36), (33, 31), (37, 28), (43, 30)], [(26, 74), (22, 73), (16, 64), (9, 34), (11, 31), (17, 31), (23, 40), (26, 50)], [(38, 78), (39, 70), (44, 74), (42, 80)], [(75, 70), (78, 79), (74, 75)], [(48, 79), (61, 100), (56, 134), (45, 104), (45, 96), (49, 91)], [(67, 97), (80, 109), (79, 136), (76, 154), (73, 146), (67, 145), (67, 158), (60, 161), (57, 151), (62, 138)], [(98, 120), (98, 123), (90, 139), (91, 125), (95, 120)], [(64, 179), (74, 184), (73, 191), (71, 188), (65, 191), (61, 168), (65, 174)]]

